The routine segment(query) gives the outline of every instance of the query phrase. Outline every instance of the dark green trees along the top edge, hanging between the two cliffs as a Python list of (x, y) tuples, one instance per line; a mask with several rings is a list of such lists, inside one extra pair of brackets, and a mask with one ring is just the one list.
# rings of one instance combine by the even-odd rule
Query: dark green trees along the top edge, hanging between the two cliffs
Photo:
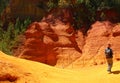
[[(97, 12), (104, 9), (114, 9), (120, 13), (120, 0), (49, 0), (46, 5), (47, 10), (55, 7), (72, 8), (74, 26), (79, 29), (89, 25), (97, 19)], [(105, 20), (105, 13), (99, 15), (100, 19)]]

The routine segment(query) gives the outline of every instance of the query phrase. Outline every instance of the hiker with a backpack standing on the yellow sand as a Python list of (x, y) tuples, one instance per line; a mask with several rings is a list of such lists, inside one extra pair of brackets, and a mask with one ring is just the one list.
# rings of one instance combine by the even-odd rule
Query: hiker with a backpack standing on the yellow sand
[(107, 48), (105, 49), (105, 55), (106, 55), (106, 60), (107, 60), (107, 64), (108, 64), (108, 69), (107, 71), (109, 73), (111, 73), (111, 68), (113, 66), (113, 51), (112, 49), (110, 48), (111, 47), (111, 44), (108, 44)]

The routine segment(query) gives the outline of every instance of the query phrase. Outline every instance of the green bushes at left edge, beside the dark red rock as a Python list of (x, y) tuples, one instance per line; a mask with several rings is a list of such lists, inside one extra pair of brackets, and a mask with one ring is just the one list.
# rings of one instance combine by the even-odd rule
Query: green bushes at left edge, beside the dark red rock
[(3, 23), (0, 22), (0, 50), (6, 54), (12, 54), (13, 47), (19, 41), (19, 35), (23, 34), (27, 26), (31, 23), (30, 19), (24, 21), (16, 20), (16, 23), (9, 23), (6, 31), (2, 29)]

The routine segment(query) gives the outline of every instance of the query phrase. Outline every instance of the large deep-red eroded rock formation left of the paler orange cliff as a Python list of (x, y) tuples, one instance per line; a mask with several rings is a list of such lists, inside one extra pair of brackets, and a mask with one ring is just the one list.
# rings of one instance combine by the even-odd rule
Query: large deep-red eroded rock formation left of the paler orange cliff
[[(26, 40), (24, 42), (24, 50), (19, 55), (21, 58), (43, 62), (49, 65), (63, 64), (60, 55), (65, 58), (66, 54), (72, 49), (72, 53), (76, 52), (77, 56), (73, 56), (70, 62), (81, 56), (81, 50), (76, 42), (75, 30), (70, 23), (62, 23), (56, 21), (56, 25), (49, 22), (34, 22), (25, 32)], [(61, 49), (67, 49), (61, 53)], [(66, 58), (65, 58), (66, 59)], [(68, 59), (66, 59), (68, 60)], [(67, 63), (68, 65), (68, 63)]]

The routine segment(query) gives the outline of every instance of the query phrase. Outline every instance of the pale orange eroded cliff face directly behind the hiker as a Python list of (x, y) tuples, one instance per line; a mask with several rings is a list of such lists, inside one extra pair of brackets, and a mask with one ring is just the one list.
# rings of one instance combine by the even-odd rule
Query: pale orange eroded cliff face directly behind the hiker
[(72, 65), (86, 66), (98, 65), (106, 62), (104, 50), (110, 43), (114, 53), (114, 60), (120, 59), (120, 25), (114, 25), (108, 21), (96, 22), (88, 30), (85, 37), (82, 56)]

